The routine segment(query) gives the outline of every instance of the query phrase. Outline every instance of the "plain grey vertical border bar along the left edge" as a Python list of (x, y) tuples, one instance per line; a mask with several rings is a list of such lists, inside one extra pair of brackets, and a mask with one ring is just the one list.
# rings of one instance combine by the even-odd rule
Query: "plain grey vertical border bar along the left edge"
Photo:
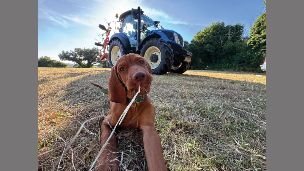
[(0, 170), (37, 170), (37, 5), (0, 2)]

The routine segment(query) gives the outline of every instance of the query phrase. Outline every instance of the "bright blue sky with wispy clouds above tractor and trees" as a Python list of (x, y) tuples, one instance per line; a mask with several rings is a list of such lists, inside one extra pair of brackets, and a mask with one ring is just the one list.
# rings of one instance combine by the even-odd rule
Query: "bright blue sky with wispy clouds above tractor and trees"
[(98, 27), (106, 25), (104, 18), (116, 21), (115, 13), (120, 15), (138, 6), (145, 15), (160, 21), (164, 29), (180, 33), (188, 42), (199, 30), (218, 21), (243, 24), (249, 36), (250, 21), (257, 19), (264, 8), (262, 0), (38, 0), (38, 57), (60, 61), (62, 50), (98, 47), (95, 38), (101, 40), (96, 34), (104, 33)]

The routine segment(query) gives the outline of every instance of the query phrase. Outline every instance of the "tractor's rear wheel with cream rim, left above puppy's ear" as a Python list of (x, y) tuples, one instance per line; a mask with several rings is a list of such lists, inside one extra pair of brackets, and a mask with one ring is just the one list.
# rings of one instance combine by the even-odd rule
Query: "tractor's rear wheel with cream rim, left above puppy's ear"
[(123, 43), (118, 40), (118, 39), (114, 39), (113, 41), (111, 41), (111, 44), (109, 46), (109, 64), (110, 67), (112, 68), (115, 64), (116, 61), (123, 55), (126, 55), (127, 50), (125, 48), (125, 46), (123, 46)]

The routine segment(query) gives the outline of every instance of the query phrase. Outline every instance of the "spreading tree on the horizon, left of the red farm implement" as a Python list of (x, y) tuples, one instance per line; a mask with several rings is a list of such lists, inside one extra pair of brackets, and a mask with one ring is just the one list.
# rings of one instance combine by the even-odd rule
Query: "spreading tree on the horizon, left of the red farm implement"
[(76, 62), (81, 68), (93, 67), (94, 64), (101, 62), (99, 60), (99, 50), (95, 47), (92, 49), (75, 48), (74, 51), (70, 50), (70, 52), (61, 51), (58, 56), (60, 60), (70, 60)]

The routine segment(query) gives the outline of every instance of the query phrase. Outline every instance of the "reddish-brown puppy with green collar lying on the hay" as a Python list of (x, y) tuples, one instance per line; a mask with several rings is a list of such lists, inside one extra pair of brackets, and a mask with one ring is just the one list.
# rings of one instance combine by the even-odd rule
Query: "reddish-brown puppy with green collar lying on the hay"
[[(149, 93), (152, 80), (152, 70), (145, 58), (130, 53), (117, 60), (116, 65), (111, 69), (108, 82), (110, 111), (101, 124), (101, 145), (106, 142), (112, 132), (109, 125), (112, 127), (116, 125), (119, 117), (130, 103), (127, 97), (132, 99), (137, 93), (139, 85), (138, 97)], [(97, 84), (93, 85), (102, 88)], [(154, 121), (155, 108), (149, 96), (146, 96), (143, 101), (131, 105), (122, 123), (117, 127), (142, 130), (148, 169), (150, 171), (167, 171), (161, 149), (161, 140), (155, 131)], [(95, 164), (97, 170), (119, 170), (118, 156), (116, 153), (112, 153), (116, 152), (116, 148), (116, 136), (113, 134)]]

